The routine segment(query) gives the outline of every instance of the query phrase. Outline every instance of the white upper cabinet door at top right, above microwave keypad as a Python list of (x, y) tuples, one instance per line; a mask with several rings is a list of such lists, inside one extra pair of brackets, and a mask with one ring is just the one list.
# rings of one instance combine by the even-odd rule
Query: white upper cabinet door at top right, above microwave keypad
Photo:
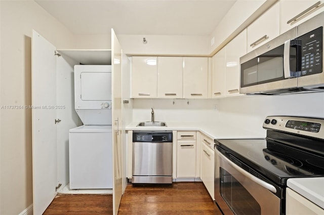
[(318, 0), (280, 0), (280, 34), (324, 11), (322, 6)]

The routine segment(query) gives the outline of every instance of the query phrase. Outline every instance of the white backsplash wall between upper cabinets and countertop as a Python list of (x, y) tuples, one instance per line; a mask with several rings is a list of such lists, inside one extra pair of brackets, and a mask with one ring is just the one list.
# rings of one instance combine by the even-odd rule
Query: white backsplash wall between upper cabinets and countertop
[[(187, 104), (189, 101), (189, 105)], [(175, 102), (175, 104), (173, 104)], [(214, 110), (214, 107), (217, 110)], [(231, 122), (265, 137), (266, 116), (288, 115), (324, 118), (324, 93), (277, 96), (241, 96), (223, 99), (134, 99), (133, 121)], [(233, 131), (235, 132), (235, 131)], [(230, 137), (229, 137), (230, 138)]]

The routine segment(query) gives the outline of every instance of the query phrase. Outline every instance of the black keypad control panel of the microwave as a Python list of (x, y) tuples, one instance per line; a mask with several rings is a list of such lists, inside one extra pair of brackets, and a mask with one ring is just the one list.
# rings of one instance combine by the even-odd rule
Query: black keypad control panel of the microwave
[(300, 37), (301, 76), (321, 73), (323, 70), (323, 27), (316, 28)]

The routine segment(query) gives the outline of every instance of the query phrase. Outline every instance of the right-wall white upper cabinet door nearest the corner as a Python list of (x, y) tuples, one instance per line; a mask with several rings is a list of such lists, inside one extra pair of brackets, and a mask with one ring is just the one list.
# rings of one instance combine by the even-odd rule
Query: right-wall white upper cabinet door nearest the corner
[(225, 60), (226, 49), (223, 48), (212, 58), (212, 98), (225, 96)]

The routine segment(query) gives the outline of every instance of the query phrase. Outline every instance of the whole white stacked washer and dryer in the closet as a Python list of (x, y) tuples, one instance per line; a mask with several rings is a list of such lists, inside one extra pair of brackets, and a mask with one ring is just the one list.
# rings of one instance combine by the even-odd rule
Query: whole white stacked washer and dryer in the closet
[(112, 189), (111, 66), (74, 66), (74, 105), (82, 126), (69, 130), (70, 189)]

